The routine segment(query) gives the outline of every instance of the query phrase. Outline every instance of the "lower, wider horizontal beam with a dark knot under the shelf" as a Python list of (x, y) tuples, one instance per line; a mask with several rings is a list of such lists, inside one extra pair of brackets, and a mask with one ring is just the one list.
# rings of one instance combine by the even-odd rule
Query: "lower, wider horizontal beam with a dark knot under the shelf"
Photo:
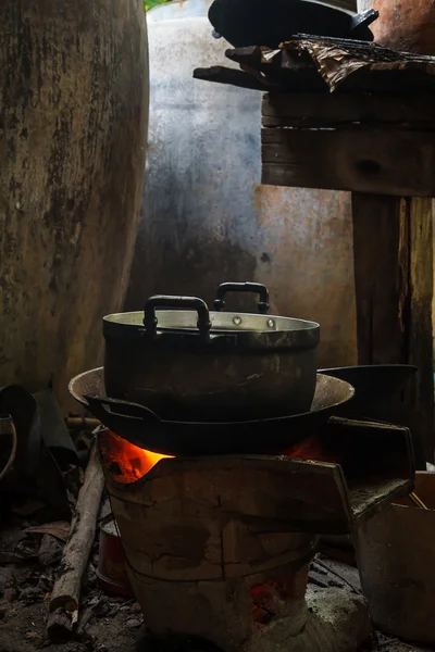
[(435, 197), (435, 134), (384, 129), (261, 130), (262, 183)]

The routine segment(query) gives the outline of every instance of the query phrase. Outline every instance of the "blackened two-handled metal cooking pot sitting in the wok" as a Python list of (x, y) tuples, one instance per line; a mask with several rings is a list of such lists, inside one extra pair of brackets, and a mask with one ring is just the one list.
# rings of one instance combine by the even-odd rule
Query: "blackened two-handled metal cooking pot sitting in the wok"
[[(221, 312), (228, 291), (260, 296), (259, 314)], [(164, 310), (163, 310), (164, 309)], [(320, 326), (269, 316), (260, 284), (223, 284), (214, 311), (194, 297), (151, 297), (103, 319), (107, 394), (162, 418), (238, 421), (309, 412)]]

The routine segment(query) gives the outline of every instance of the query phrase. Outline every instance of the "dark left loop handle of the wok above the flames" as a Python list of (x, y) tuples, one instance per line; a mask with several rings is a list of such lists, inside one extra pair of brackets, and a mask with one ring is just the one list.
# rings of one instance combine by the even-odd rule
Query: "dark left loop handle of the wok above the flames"
[(100, 422), (116, 432), (116, 424), (122, 421), (125, 426), (125, 419), (147, 422), (150, 425), (161, 425), (158, 415), (138, 403), (110, 399), (109, 397), (98, 397), (95, 394), (84, 394), (88, 402), (90, 412), (100, 419)]

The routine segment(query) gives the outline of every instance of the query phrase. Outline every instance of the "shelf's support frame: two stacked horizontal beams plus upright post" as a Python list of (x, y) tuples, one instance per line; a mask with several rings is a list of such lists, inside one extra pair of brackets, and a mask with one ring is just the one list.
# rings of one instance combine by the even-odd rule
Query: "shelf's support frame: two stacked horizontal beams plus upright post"
[(359, 364), (418, 367), (403, 401), (419, 468), (435, 446), (433, 102), (431, 92), (276, 93), (263, 99), (261, 133), (264, 184), (352, 192)]

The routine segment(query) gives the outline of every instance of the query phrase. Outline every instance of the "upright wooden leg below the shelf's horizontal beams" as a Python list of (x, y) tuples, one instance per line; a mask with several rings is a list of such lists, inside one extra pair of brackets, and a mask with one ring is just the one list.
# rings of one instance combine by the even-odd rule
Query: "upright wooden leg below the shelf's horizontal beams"
[(352, 193), (359, 364), (413, 364), (406, 392), (418, 468), (433, 462), (432, 200)]

